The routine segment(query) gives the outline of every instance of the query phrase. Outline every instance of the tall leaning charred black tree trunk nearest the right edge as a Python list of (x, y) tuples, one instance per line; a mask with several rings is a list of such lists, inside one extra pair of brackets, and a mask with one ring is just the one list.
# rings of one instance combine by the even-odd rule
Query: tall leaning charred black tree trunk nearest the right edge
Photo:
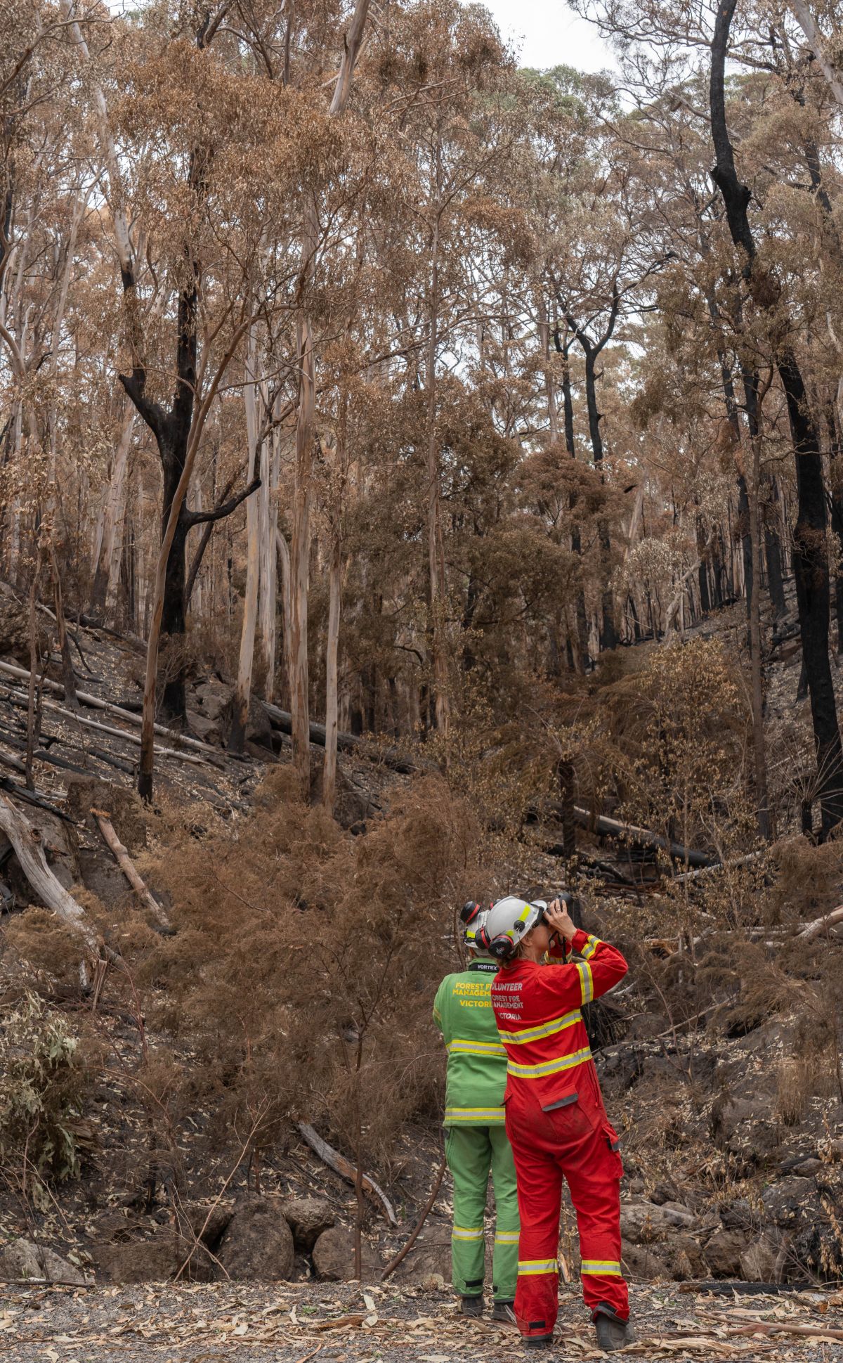
[[(735, 3), (737, 0), (722, 0), (711, 42), (710, 106), (715, 150), (712, 179), (723, 195), (729, 230), (742, 255), (742, 275), (750, 296), (760, 311), (772, 313), (780, 303), (779, 289), (776, 282), (756, 264), (756, 247), (748, 214), (752, 195), (738, 180), (726, 123), (725, 70)], [(821, 836), (827, 837), (843, 819), (843, 750), (828, 656), (829, 574), (823, 459), (802, 372), (789, 345), (778, 350), (775, 363), (784, 390), (797, 466), (794, 577), (817, 756)]]

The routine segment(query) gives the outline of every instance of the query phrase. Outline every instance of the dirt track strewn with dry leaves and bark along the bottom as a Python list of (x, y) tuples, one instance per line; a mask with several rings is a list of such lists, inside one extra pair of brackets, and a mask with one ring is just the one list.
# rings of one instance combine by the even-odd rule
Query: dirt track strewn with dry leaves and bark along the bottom
[[(640, 1343), (626, 1352), (636, 1358), (843, 1360), (840, 1291), (723, 1298), (669, 1285), (635, 1287), (632, 1298)], [(787, 1333), (734, 1333), (761, 1321)], [(516, 1332), (462, 1319), (451, 1295), (325, 1283), (8, 1287), (0, 1298), (3, 1355), (14, 1363), (505, 1363), (527, 1356)], [(603, 1356), (573, 1289), (561, 1293), (553, 1356)]]

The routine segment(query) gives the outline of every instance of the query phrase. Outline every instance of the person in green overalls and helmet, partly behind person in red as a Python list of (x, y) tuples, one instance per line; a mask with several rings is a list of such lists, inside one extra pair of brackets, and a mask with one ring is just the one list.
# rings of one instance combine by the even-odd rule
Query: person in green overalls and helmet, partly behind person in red
[(492, 1011), (497, 961), (477, 949), (478, 904), (466, 904), (468, 969), (447, 975), (436, 992), (433, 1021), (448, 1051), (445, 1153), (454, 1178), (452, 1283), (463, 1315), (483, 1313), (486, 1244), (483, 1217), (489, 1169), (497, 1224), (492, 1259), (492, 1319), (515, 1323), (518, 1280), (518, 1195), (515, 1163), (504, 1129), (507, 1055)]

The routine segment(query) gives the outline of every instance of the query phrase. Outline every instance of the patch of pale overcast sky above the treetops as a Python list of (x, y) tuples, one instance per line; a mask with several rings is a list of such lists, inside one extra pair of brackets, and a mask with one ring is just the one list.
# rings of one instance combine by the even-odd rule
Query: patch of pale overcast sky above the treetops
[(613, 67), (611, 53), (597, 29), (573, 14), (565, 0), (483, 0), (501, 35), (520, 50), (524, 67)]

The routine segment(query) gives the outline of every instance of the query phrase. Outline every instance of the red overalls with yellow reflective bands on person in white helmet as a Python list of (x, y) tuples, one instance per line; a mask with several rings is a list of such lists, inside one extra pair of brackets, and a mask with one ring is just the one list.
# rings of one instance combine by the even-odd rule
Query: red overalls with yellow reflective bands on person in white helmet
[(519, 960), (492, 983), (508, 1056), (504, 1104), (522, 1220), (515, 1314), (524, 1336), (550, 1336), (556, 1325), (562, 1175), (576, 1210), (586, 1304), (629, 1317), (620, 1262), (624, 1171), (580, 1013), (624, 977), (626, 962), (586, 932), (571, 946), (582, 961)]

